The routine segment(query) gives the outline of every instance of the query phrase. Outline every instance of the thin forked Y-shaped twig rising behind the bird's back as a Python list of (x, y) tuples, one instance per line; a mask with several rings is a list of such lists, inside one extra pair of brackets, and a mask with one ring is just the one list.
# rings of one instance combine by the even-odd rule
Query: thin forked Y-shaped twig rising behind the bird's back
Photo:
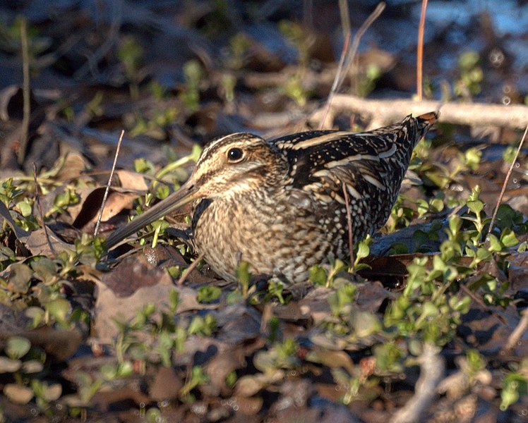
[[(341, 2), (340, 2), (341, 6)], [(332, 83), (332, 88), (330, 89), (330, 93), (328, 94), (328, 99), (326, 100), (325, 108), (323, 109), (323, 118), (320, 119), (320, 126), (319, 128), (322, 129), (325, 125), (326, 116), (328, 115), (328, 111), (330, 111), (330, 105), (332, 104), (332, 99), (334, 98), (337, 91), (340, 90), (340, 87), (344, 80), (344, 75), (346, 75), (346, 70), (349, 68), (350, 63), (354, 60), (354, 57), (356, 56), (357, 49), (359, 47), (359, 42), (361, 41), (361, 37), (363, 37), (366, 30), (368, 30), (368, 27), (372, 25), (374, 20), (380, 16), (381, 12), (385, 9), (385, 3), (380, 3), (378, 6), (376, 6), (376, 9), (371, 13), (368, 18), (366, 18), (365, 22), (361, 27), (359, 27), (359, 30), (357, 30), (356, 35), (354, 35), (354, 40), (352, 42), (352, 47), (349, 49), (349, 42), (350, 42), (350, 31), (348, 31), (347, 35), (344, 37), (344, 46), (341, 53), (341, 58), (339, 62), (339, 66), (337, 66), (337, 72), (335, 73), (334, 82)], [(344, 18), (344, 8), (340, 8), (341, 11), (341, 20), (343, 25), (343, 30), (347, 26), (348, 16), (345, 19)], [(346, 9), (348, 10), (348, 8)], [(350, 25), (348, 23), (348, 25)]]

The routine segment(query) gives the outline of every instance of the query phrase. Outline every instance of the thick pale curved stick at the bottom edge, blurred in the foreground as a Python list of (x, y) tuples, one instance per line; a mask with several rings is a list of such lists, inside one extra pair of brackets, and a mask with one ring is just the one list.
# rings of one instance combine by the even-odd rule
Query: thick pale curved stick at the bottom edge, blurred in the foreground
[(443, 378), (445, 363), (439, 354), (440, 348), (430, 343), (424, 344), (424, 352), (419, 357), (420, 377), (414, 387), (414, 396), (397, 410), (391, 423), (423, 422), (421, 418), (436, 396), (436, 387)]

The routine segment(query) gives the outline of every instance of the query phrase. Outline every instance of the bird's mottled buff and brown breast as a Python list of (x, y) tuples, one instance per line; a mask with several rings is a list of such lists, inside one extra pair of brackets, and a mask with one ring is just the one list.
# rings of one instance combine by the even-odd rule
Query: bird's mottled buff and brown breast
[(217, 274), (236, 280), (240, 260), (253, 274), (306, 278), (323, 262), (330, 240), (309, 212), (305, 198), (268, 193), (202, 200), (193, 209), (193, 235), (199, 252)]

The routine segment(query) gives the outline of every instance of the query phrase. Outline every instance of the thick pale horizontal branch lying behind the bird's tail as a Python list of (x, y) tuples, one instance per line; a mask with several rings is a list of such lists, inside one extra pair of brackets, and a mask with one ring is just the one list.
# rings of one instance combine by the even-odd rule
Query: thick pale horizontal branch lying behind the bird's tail
[[(353, 95), (335, 94), (332, 97), (330, 110), (333, 113), (353, 112), (366, 118), (376, 118), (376, 125), (394, 123), (407, 114), (423, 114), (437, 110), (440, 102), (424, 100), (415, 102), (412, 99), (373, 100)], [(312, 122), (319, 122), (324, 109), (321, 108), (311, 116)], [(442, 103), (440, 122), (456, 125), (500, 126), (504, 128), (524, 128), (528, 123), (528, 106), (522, 104), (462, 104)]]

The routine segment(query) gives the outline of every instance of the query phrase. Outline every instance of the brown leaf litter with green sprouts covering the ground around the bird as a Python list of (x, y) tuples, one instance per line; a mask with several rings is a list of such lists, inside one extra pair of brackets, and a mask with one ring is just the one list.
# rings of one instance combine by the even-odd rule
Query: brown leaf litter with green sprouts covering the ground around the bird
[[(419, 421), (524, 421), (528, 335), (511, 338), (528, 305), (524, 150), (484, 244), (518, 131), (439, 123), (416, 148), (383, 234), (361, 246), (371, 255), (354, 274), (338, 261), (313, 269), (303, 298), (248, 274), (251, 283), (226, 283), (201, 262), (179, 285), (196, 259), (185, 214), (104, 257), (88, 234), (121, 129), (123, 169), (103, 233), (177, 189), (196, 158), (193, 145), (230, 132), (302, 130), (332, 85), (340, 39), (313, 18), (339, 26), (337, 4), (311, 4), (304, 21), (287, 5), (263, 20), (242, 2), (195, 6), (127, 2), (97, 17), (66, 2), (56, 6), (60, 20), (36, 4), (1, 6), (0, 67), (21, 68), (17, 16), (28, 20), (32, 54), (22, 166), (22, 84), (12, 70), (0, 73), (1, 417), (375, 422), (402, 419), (426, 398)], [(356, 12), (359, 27), (370, 11)], [(522, 68), (504, 59), (515, 56), (505, 39), (522, 41), (516, 32), (498, 36), (486, 11), (474, 13), (474, 25), (453, 18), (443, 26), (435, 15), (437, 26), (427, 24), (424, 95), (525, 102)], [(382, 14), (366, 32), (368, 47), (344, 78), (352, 93), (412, 97), (414, 79), (405, 75), (415, 37), (402, 30), (394, 45), (392, 32), (415, 27), (415, 14)], [(176, 20), (162, 18), (169, 15)], [(459, 36), (486, 47), (466, 51)], [(385, 49), (376, 37), (388, 40)], [(332, 122), (369, 124), (343, 111)], [(182, 157), (181, 166), (165, 167)], [(443, 364), (433, 374), (428, 363)]]

